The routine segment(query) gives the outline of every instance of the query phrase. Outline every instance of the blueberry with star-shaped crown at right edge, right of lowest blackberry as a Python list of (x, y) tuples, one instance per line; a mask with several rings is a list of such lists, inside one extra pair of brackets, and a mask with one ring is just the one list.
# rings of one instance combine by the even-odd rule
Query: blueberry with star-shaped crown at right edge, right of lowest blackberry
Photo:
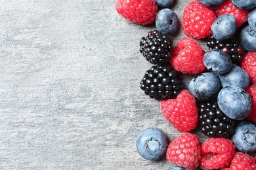
[(232, 142), (240, 152), (256, 151), (256, 124), (242, 120), (237, 126)]

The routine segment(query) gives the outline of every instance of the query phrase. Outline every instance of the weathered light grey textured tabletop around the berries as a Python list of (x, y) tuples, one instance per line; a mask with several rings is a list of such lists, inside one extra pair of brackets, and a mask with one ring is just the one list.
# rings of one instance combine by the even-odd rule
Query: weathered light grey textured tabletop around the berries
[[(173, 166), (144, 160), (136, 149), (148, 127), (169, 140), (181, 134), (140, 90), (152, 65), (139, 41), (156, 27), (127, 22), (115, 2), (1, 0), (0, 169)], [(170, 7), (180, 20), (188, 2)], [(181, 37), (182, 30), (174, 45)]]

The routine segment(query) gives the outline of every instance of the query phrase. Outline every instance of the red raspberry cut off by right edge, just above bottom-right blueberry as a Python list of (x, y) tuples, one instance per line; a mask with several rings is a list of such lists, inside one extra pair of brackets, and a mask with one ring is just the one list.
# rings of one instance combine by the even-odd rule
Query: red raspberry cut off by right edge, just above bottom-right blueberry
[(251, 112), (247, 116), (247, 120), (256, 123), (256, 84), (249, 86), (247, 93), (251, 96)]

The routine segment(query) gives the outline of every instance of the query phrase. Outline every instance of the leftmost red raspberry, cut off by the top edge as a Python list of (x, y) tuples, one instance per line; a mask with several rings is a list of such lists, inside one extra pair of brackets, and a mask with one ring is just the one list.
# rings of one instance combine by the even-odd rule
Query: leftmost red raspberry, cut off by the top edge
[(158, 5), (154, 0), (117, 0), (116, 11), (130, 22), (147, 25), (155, 22)]

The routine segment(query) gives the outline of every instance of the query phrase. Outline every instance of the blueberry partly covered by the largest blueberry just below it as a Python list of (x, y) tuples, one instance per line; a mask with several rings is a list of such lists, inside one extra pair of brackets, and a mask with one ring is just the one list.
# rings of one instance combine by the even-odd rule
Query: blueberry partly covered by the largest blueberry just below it
[(235, 64), (232, 64), (228, 73), (219, 75), (219, 79), (221, 80), (221, 85), (223, 87), (233, 85), (246, 90), (250, 85), (250, 78), (247, 72)]

